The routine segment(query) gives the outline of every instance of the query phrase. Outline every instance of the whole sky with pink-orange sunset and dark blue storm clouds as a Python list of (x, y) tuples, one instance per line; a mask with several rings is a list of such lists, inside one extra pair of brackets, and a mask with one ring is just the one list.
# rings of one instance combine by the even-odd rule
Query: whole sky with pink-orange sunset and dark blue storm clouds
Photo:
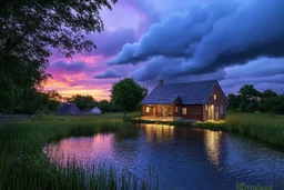
[(164, 83), (217, 80), (284, 93), (284, 0), (119, 0), (101, 10), (97, 50), (71, 59), (53, 50), (44, 88), (110, 99), (131, 77), (151, 91)]

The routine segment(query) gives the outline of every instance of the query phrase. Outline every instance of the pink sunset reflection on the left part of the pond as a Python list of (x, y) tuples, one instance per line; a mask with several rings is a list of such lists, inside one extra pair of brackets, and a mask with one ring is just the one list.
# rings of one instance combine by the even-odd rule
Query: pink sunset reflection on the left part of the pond
[(57, 144), (47, 146), (43, 151), (51, 162), (63, 167), (68, 162), (85, 164), (87, 161), (90, 161), (90, 158), (103, 161), (112, 156), (113, 138), (114, 134), (97, 134), (93, 140), (90, 140), (90, 138), (63, 139)]

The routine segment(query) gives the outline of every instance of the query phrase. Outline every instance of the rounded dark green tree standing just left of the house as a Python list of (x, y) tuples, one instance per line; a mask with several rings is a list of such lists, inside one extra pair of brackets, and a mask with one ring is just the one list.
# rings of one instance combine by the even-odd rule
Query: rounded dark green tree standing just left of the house
[(123, 111), (124, 117), (126, 112), (135, 110), (146, 96), (148, 89), (141, 87), (131, 78), (121, 79), (112, 84), (111, 102)]

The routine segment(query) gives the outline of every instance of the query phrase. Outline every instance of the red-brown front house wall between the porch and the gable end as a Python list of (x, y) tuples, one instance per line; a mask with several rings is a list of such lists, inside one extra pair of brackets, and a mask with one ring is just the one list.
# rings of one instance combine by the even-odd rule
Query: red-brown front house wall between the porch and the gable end
[[(186, 108), (185, 116), (182, 114), (182, 108)], [(182, 119), (203, 121), (203, 104), (183, 104), (180, 111)]]

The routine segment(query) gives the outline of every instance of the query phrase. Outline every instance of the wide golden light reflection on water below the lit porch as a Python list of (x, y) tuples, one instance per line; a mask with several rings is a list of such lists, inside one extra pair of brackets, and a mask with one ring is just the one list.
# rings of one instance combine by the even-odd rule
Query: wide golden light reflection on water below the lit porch
[(173, 139), (174, 127), (163, 124), (141, 124), (146, 132), (146, 140), (168, 141)]

